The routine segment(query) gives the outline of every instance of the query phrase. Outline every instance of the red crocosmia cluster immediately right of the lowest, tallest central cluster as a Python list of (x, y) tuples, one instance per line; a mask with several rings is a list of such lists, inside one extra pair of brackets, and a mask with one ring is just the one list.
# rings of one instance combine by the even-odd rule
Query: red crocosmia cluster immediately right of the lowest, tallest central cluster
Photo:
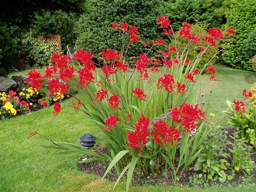
[(161, 144), (168, 150), (166, 142), (170, 143), (171, 146), (174, 146), (178, 142), (180, 136), (180, 131), (174, 126), (168, 125), (165, 121), (158, 120), (158, 122), (153, 124), (153, 130), (150, 132), (150, 135), (154, 137), (156, 143)]

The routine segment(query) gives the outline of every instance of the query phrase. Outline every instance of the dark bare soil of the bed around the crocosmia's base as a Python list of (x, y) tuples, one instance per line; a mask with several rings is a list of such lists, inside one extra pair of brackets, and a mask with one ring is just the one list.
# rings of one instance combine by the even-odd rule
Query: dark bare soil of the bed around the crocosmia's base
[[(228, 131), (228, 134), (227, 134), (228, 140), (230, 140), (230, 142), (233, 142), (233, 139), (230, 136), (232, 136), (232, 133), (235, 131), (235, 128), (233, 128), (231, 126), (225, 126), (224, 128)], [(228, 146), (228, 147), (230, 147), (230, 146)], [(97, 150), (110, 155), (110, 152), (108, 151), (108, 149), (105, 146), (98, 146)], [(226, 152), (230, 154), (228, 149), (226, 150)], [(251, 159), (256, 162), (256, 153), (255, 153), (256, 149), (255, 148), (253, 148), (253, 152), (254, 152), (254, 154), (251, 156)], [(90, 158), (90, 156), (89, 156), (89, 158)], [(228, 161), (230, 164), (232, 164), (231, 160), (228, 160)], [(82, 170), (85, 173), (102, 177), (104, 175), (104, 173), (106, 172), (108, 165), (109, 165), (109, 162), (93, 162), (93, 163), (85, 163), (85, 164), (79, 163), (78, 167), (80, 170)], [(184, 186), (184, 185), (191, 186), (190, 177), (196, 176), (198, 178), (198, 175), (202, 173), (201, 171), (194, 171), (193, 165), (194, 165), (194, 163), (192, 163), (192, 165), (190, 167), (188, 167), (186, 170), (184, 170), (180, 180), (178, 182), (176, 182), (176, 184), (178, 184), (179, 186)], [(122, 168), (120, 168), (120, 170), (122, 170)], [(169, 184), (169, 185), (171, 185), (171, 184), (174, 184), (174, 182), (172, 181), (171, 170), (169, 169), (168, 172), (166, 172), (166, 173), (164, 172), (164, 170), (165, 170), (165, 166), (163, 165), (162, 170), (160, 170), (160, 172), (158, 174), (156, 174), (156, 175), (150, 174), (150, 176), (144, 176), (142, 172), (135, 169), (134, 174), (133, 174), (132, 184), (133, 185), (134, 184), (136, 184), (136, 185), (144, 185), (144, 184), (149, 184), (149, 185)], [(126, 172), (126, 174), (127, 174), (127, 172)], [(229, 174), (229, 173), (227, 173), (227, 174)], [(179, 173), (177, 175), (179, 175)], [(236, 185), (237, 183), (241, 183), (243, 180), (243, 177), (246, 177), (246, 176), (244, 176), (244, 174), (236, 173), (236, 175), (234, 176), (234, 179), (230, 181), (230, 184)], [(118, 175), (116, 174), (116, 170), (114, 168), (112, 168), (112, 170), (107, 174), (106, 178), (112, 182), (115, 182), (116, 179), (118, 178)], [(198, 180), (199, 180), (199, 178), (198, 178)], [(220, 182), (210, 182), (208, 180), (205, 180), (203, 182), (208, 182), (208, 186), (220, 184)], [(256, 175), (253, 176), (251, 182), (256, 183)]]

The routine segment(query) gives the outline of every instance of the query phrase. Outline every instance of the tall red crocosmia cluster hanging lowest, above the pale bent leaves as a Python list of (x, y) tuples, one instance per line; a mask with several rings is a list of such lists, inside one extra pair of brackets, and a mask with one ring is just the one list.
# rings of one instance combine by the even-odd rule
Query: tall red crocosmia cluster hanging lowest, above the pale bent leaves
[(146, 118), (144, 114), (141, 113), (138, 122), (134, 124), (135, 132), (128, 132), (127, 134), (128, 146), (131, 147), (132, 151), (137, 148), (139, 156), (141, 156), (145, 144), (148, 142), (149, 123), (149, 118)]

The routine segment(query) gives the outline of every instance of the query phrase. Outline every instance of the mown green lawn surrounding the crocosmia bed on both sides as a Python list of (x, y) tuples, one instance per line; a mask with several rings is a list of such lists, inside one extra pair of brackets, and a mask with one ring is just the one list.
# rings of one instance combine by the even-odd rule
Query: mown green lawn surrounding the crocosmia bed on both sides
[[(226, 109), (226, 99), (242, 98), (242, 90), (249, 89), (251, 84), (245, 81), (245, 76), (252, 72), (234, 70), (223, 66), (216, 67), (216, 78), (221, 82), (204, 81), (205, 102), (212, 90), (209, 112), (216, 116), (214, 122), (222, 118), (222, 110)], [(17, 73), (16, 73), (17, 74)], [(21, 74), (19, 72), (19, 74)], [(22, 72), (27, 74), (27, 72)], [(203, 77), (202, 77), (203, 78)], [(200, 78), (201, 79), (201, 78)], [(72, 100), (72, 99), (71, 99)], [(66, 100), (63, 104), (70, 103)], [(49, 143), (40, 136), (26, 140), (32, 131), (56, 141), (79, 143), (79, 137), (89, 132), (102, 138), (99, 128), (83, 113), (70, 108), (64, 110), (52, 119), (52, 108), (48, 107), (30, 115), (3, 120), (0, 122), (0, 191), (112, 191), (114, 183), (90, 174), (81, 172), (76, 166), (78, 158), (66, 158), (53, 154), (53, 151), (42, 146)], [(115, 191), (125, 190), (124, 184), (119, 184)], [(255, 186), (237, 188), (188, 188), (178, 186), (143, 186), (130, 187), (130, 191), (216, 191), (240, 192), (256, 191)]]

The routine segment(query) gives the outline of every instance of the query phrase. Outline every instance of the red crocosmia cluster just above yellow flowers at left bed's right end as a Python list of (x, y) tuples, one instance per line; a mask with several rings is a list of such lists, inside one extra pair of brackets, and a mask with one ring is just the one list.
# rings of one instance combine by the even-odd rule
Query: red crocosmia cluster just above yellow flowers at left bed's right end
[(68, 88), (70, 88), (68, 84), (61, 82), (61, 80), (59, 80), (58, 77), (56, 79), (52, 78), (48, 82), (48, 86), (49, 92), (52, 93), (55, 96), (55, 98), (58, 98), (60, 95), (68, 93)]

